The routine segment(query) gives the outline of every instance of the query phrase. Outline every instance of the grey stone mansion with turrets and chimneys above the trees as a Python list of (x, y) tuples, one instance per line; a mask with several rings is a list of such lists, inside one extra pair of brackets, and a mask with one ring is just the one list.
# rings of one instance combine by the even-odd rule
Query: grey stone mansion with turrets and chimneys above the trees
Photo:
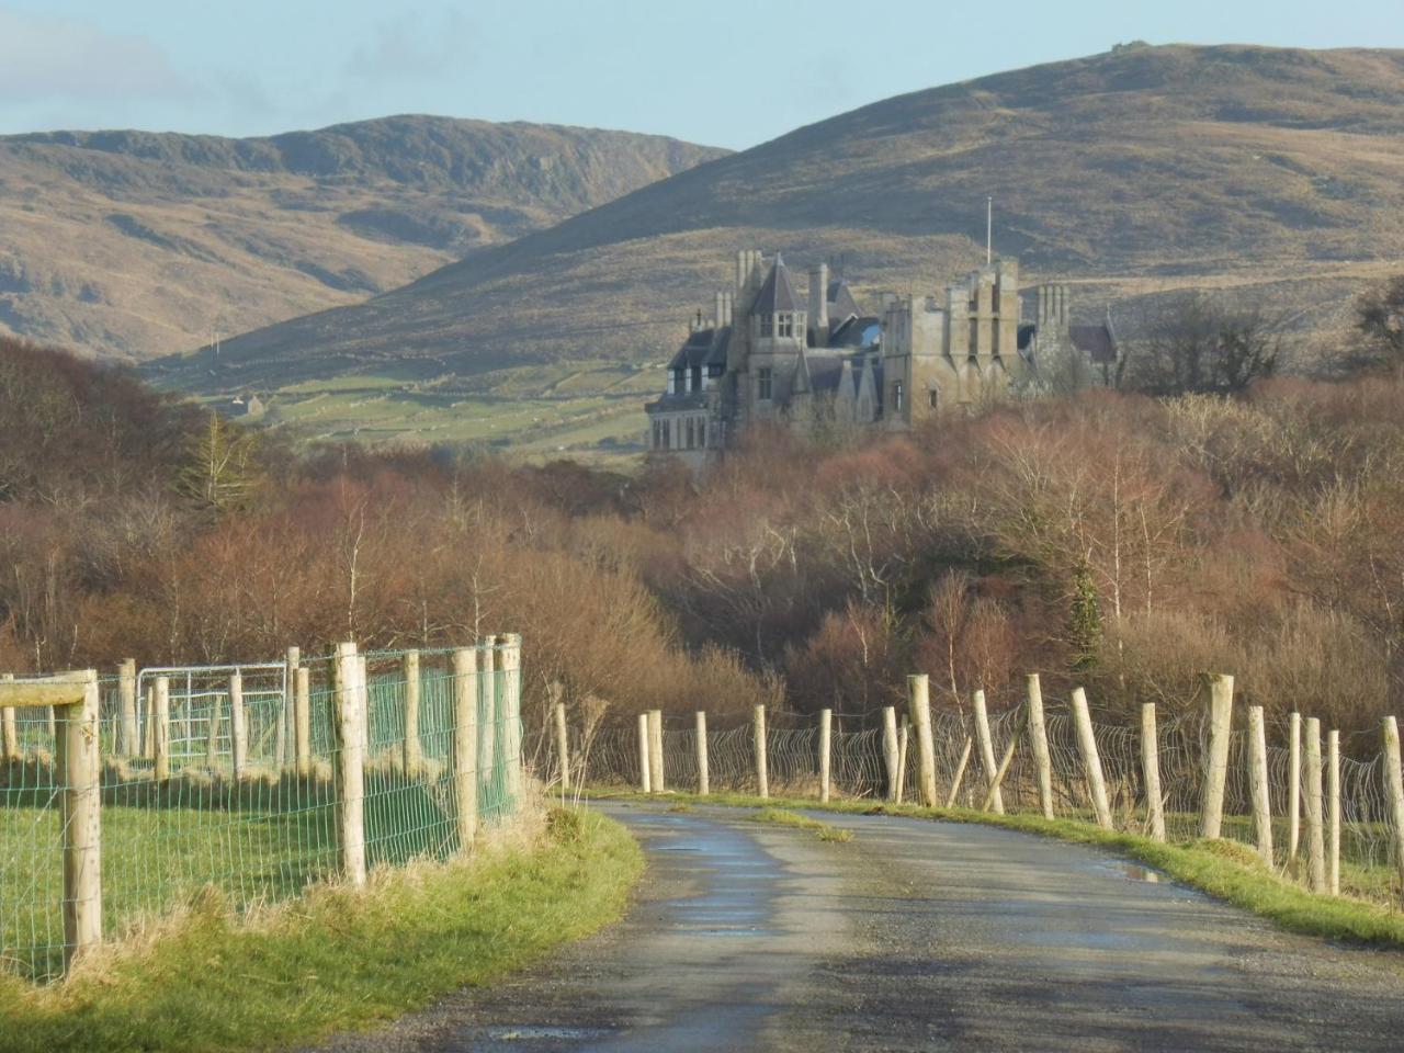
[(806, 293), (778, 253), (740, 251), (734, 286), (715, 295), (710, 319), (696, 314), (667, 392), (644, 407), (649, 449), (701, 466), (755, 421), (911, 428), (1000, 397), (1060, 352), (1104, 376), (1116, 361), (1109, 326), (1068, 324), (1066, 285), (1038, 286), (1025, 323), (1012, 260), (939, 298), (883, 293), (876, 313), (826, 264), (809, 268)]

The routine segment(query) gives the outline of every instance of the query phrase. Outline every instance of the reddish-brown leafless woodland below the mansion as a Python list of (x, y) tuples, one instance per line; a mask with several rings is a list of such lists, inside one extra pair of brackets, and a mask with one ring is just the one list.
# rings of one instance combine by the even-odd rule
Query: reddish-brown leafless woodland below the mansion
[(1355, 313), (1330, 375), (1259, 354), (1227, 393), (1132, 369), (910, 434), (755, 430), (701, 476), (292, 448), (4, 338), (0, 668), (519, 632), (528, 698), (614, 719), (862, 716), (915, 671), (942, 706), (1036, 670), (1179, 710), (1224, 671), (1365, 727), (1404, 702), (1404, 278)]

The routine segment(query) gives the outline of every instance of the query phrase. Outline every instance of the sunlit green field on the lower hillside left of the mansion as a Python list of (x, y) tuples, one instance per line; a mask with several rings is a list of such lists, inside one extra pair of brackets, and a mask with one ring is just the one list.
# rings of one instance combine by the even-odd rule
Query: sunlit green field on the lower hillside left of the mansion
[(261, 423), (302, 442), (479, 446), (532, 459), (616, 461), (643, 452), (643, 404), (664, 385), (661, 368), (607, 361), (472, 376), (416, 362), (258, 395), (267, 406)]

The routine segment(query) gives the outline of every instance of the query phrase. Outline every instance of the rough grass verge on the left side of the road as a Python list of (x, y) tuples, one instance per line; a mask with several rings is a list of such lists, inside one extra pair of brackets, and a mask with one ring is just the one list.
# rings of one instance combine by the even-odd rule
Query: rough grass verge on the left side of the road
[(208, 894), (67, 983), (0, 979), (0, 1049), (244, 1050), (362, 1028), (614, 921), (642, 868), (621, 826), (556, 810), (536, 844), (388, 868), (251, 921)]

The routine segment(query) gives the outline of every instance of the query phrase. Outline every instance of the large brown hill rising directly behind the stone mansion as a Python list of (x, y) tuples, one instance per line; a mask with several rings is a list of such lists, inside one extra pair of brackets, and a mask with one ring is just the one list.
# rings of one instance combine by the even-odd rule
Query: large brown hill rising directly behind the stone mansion
[(1130, 48), (890, 98), (241, 336), (218, 371), (152, 375), (198, 392), (375, 378), (380, 400), (413, 385), (378, 414), (395, 432), (432, 397), (497, 397), (503, 369), (660, 361), (739, 247), (842, 253), (869, 295), (931, 289), (983, 258), (986, 194), (997, 251), (1074, 282), (1078, 312), (1236, 286), (1330, 329), (1404, 258), (1404, 52)]

